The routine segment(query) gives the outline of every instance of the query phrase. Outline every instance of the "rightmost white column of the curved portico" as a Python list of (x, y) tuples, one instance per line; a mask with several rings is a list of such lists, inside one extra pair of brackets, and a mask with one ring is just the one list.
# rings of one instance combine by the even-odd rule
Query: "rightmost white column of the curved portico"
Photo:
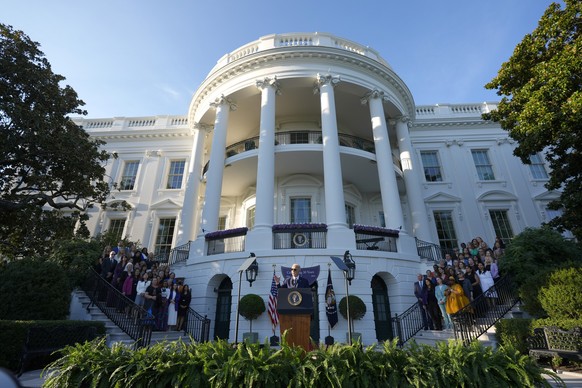
[[(414, 159), (410, 134), (408, 132), (408, 117), (403, 116), (399, 120), (394, 121), (396, 124), (398, 148), (400, 149), (400, 163), (402, 164), (402, 173), (406, 186), (406, 196), (412, 213), (412, 234), (421, 240), (430, 241), (431, 234), (428, 228), (428, 215), (420, 185), (420, 166)], [(392, 125), (392, 121), (390, 124)]]

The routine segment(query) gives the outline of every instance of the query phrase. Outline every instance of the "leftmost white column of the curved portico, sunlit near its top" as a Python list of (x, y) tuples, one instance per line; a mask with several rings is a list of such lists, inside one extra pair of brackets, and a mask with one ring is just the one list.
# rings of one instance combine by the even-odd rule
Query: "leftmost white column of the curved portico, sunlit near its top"
[(202, 162), (204, 158), (204, 139), (210, 128), (199, 123), (194, 124), (192, 143), (192, 154), (190, 165), (186, 177), (186, 187), (184, 189), (184, 204), (182, 205), (181, 224), (178, 230), (176, 246), (186, 244), (196, 237), (194, 230), (194, 220), (196, 219), (196, 209), (198, 208), (198, 191), (202, 173)]

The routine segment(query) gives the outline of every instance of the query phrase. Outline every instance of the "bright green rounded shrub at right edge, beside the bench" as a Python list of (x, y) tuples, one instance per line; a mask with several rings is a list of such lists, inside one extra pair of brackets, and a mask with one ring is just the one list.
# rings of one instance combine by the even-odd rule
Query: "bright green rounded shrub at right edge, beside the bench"
[(539, 300), (548, 316), (557, 320), (582, 319), (582, 268), (553, 272), (542, 287)]

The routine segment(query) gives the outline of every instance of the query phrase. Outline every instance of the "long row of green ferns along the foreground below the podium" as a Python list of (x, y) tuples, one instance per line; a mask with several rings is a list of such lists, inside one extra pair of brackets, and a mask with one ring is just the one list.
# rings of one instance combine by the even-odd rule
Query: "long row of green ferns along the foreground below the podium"
[(137, 351), (94, 341), (68, 347), (47, 370), (48, 388), (506, 387), (540, 386), (543, 374), (551, 375), (511, 346), (494, 350), (455, 341), (404, 349), (395, 341), (379, 348), (336, 344), (308, 353), (284, 341), (280, 349), (266, 342), (233, 347), (224, 341), (177, 341)]

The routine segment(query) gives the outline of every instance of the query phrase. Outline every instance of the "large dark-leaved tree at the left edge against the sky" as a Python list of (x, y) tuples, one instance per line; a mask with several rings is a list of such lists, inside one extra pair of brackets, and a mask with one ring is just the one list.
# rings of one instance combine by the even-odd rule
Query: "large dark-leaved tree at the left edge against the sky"
[[(46, 242), (83, 228), (109, 194), (102, 141), (68, 115), (85, 115), (39, 44), (0, 24), (0, 253), (46, 254)], [(79, 228), (79, 226), (81, 226)]]

